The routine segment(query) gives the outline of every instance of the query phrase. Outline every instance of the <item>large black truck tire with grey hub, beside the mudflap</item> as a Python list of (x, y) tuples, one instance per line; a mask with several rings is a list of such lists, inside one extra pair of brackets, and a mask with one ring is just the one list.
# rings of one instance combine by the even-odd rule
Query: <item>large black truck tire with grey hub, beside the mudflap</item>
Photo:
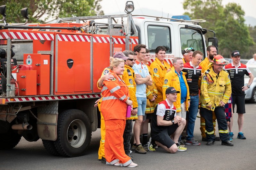
[(65, 157), (84, 155), (91, 137), (91, 123), (83, 111), (68, 109), (59, 114), (57, 140), (54, 141), (54, 146), (60, 155)]

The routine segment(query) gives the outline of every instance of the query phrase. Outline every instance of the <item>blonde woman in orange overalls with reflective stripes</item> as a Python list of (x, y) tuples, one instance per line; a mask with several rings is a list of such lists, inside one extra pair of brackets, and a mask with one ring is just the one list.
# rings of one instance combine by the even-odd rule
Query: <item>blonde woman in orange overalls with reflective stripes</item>
[(110, 63), (114, 78), (104, 81), (101, 87), (101, 112), (105, 120), (105, 157), (107, 165), (136, 167), (131, 158), (124, 152), (123, 133), (126, 122), (127, 105), (132, 106), (128, 87), (119, 75), (124, 74), (124, 60), (115, 58)]

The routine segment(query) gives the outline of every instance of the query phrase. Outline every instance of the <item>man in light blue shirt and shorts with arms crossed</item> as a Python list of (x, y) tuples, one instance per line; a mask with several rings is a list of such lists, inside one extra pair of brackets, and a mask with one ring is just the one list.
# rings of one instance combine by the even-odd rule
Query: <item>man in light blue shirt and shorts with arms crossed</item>
[(135, 51), (137, 54), (137, 60), (136, 63), (133, 64), (132, 69), (135, 72), (134, 80), (136, 82), (136, 98), (138, 102), (138, 119), (135, 120), (133, 126), (133, 148), (136, 147), (136, 153), (145, 154), (147, 151), (142, 147), (140, 143), (140, 129), (147, 105), (146, 85), (152, 85), (152, 79), (149, 75), (148, 67), (141, 62), (145, 59), (146, 45), (138, 44), (133, 48), (133, 51)]

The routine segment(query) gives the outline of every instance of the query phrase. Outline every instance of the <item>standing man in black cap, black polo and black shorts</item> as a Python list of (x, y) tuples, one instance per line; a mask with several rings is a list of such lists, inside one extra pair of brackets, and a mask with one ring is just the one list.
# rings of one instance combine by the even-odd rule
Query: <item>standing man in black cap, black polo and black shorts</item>
[[(223, 69), (228, 71), (231, 80), (232, 87), (232, 105), (233, 111), (235, 112), (235, 104), (236, 104), (236, 113), (238, 114), (237, 123), (238, 123), (238, 135), (237, 138), (246, 139), (244, 136), (242, 129), (244, 123), (244, 113), (245, 113), (245, 102), (244, 102), (244, 91), (250, 88), (250, 85), (253, 81), (253, 75), (251, 71), (245, 64), (240, 63), (240, 52), (235, 50), (231, 53), (232, 63), (223, 67)], [(244, 85), (244, 75), (249, 76), (248, 85)], [(233, 117), (230, 118), (231, 128), (229, 129), (229, 137), (233, 139), (232, 125), (233, 125)]]

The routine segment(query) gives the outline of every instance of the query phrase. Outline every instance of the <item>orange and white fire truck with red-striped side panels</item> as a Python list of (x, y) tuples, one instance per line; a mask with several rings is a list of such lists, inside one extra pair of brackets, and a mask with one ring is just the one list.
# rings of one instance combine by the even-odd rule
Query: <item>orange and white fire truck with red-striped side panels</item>
[[(24, 137), (42, 139), (53, 155), (85, 154), (100, 127), (97, 81), (116, 52), (145, 44), (151, 63), (157, 46), (167, 49), (168, 63), (186, 47), (207, 56), (207, 30), (199, 25), (204, 20), (131, 15), (127, 8), (122, 15), (38, 25), (27, 24), (28, 9), (22, 9), (22, 25), (6, 23), (5, 8), (0, 6), (0, 149), (12, 149)], [(217, 47), (217, 39), (208, 45)]]

